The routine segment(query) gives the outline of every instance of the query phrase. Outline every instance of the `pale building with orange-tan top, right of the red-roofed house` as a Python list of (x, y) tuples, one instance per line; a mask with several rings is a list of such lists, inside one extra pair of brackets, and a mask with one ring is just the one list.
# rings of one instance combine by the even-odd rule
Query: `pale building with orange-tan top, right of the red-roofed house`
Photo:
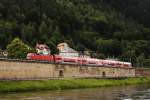
[(57, 49), (59, 50), (59, 55), (65, 57), (79, 57), (79, 53), (70, 48), (67, 43), (60, 43), (57, 45)]

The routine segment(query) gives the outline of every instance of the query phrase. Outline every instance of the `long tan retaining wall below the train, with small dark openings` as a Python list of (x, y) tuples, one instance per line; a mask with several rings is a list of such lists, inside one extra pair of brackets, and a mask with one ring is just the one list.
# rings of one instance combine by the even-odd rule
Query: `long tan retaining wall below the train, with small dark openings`
[(0, 79), (134, 77), (135, 69), (0, 61)]

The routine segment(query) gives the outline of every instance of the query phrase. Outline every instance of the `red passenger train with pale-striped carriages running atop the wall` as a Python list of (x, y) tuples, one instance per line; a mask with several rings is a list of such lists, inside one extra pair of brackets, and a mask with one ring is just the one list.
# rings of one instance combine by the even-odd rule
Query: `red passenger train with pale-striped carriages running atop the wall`
[(99, 67), (120, 67), (120, 68), (132, 68), (130, 62), (112, 60), (112, 59), (97, 59), (87, 57), (65, 57), (61, 55), (42, 55), (37, 53), (28, 53), (27, 60), (44, 61), (49, 63), (62, 63), (62, 64), (74, 64), (74, 65), (87, 65), (87, 66), (99, 66)]

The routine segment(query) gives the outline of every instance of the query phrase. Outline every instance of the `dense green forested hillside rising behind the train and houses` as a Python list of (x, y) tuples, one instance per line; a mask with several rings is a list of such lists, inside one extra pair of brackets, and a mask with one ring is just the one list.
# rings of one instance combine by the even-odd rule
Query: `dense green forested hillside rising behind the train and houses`
[(15, 37), (52, 53), (67, 42), (78, 51), (125, 61), (150, 58), (148, 0), (0, 0), (0, 48)]

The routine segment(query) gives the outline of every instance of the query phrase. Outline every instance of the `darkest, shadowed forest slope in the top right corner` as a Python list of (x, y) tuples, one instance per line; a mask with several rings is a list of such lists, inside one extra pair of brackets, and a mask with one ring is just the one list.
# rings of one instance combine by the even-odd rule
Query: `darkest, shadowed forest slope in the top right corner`
[(144, 26), (150, 26), (150, 0), (103, 0), (121, 11), (124, 15), (132, 17)]

